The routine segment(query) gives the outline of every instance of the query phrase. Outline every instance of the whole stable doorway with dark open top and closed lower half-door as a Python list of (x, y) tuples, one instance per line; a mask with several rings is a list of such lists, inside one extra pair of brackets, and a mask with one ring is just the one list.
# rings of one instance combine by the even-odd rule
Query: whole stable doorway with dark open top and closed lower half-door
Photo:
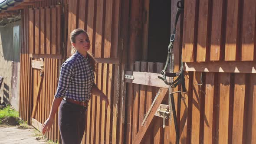
[[(144, 7), (141, 8), (143, 33), (142, 41), (136, 44), (142, 44), (142, 48), (137, 46), (134, 51), (141, 55), (136, 57), (139, 61), (128, 63), (132, 67), (129, 71), (125, 71), (125, 83), (128, 85), (126, 144), (174, 144), (176, 142), (174, 119), (168, 100), (168, 85), (158, 79), (164, 68), (171, 32), (174, 30), (176, 4), (177, 0), (144, 0), (144, 3), (139, 6)], [(141, 11), (137, 13), (140, 18)], [(131, 15), (131, 18), (132, 16), (136, 20), (137, 15)], [(174, 72), (178, 72), (181, 64), (179, 23), (174, 43)], [(139, 34), (138, 37), (140, 37)], [(178, 86), (171, 89), (175, 92), (173, 95), (176, 113), (179, 111), (177, 103), (181, 97), (180, 90)], [(163, 112), (170, 114), (170, 117)], [(177, 119), (179, 121), (179, 118)]]

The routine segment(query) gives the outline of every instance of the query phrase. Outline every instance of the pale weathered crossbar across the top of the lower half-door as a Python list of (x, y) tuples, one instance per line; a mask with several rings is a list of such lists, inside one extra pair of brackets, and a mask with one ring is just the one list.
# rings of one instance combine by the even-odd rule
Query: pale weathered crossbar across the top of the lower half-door
[(163, 80), (158, 78), (158, 76), (161, 76), (159, 73), (125, 71), (125, 75), (134, 76), (133, 80), (125, 79), (125, 82), (168, 88), (168, 85), (166, 85)]

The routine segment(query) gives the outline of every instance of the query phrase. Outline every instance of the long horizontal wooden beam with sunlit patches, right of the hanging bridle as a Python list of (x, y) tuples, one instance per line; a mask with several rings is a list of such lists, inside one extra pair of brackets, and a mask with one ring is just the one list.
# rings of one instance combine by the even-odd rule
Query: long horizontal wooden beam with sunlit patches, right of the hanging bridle
[(256, 73), (256, 62), (185, 62), (190, 72)]

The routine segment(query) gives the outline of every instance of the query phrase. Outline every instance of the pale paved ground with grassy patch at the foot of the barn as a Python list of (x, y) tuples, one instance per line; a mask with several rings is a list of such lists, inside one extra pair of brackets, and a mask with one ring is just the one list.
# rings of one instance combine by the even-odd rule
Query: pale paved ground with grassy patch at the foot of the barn
[(0, 144), (55, 144), (18, 116), (10, 106), (0, 109)]

